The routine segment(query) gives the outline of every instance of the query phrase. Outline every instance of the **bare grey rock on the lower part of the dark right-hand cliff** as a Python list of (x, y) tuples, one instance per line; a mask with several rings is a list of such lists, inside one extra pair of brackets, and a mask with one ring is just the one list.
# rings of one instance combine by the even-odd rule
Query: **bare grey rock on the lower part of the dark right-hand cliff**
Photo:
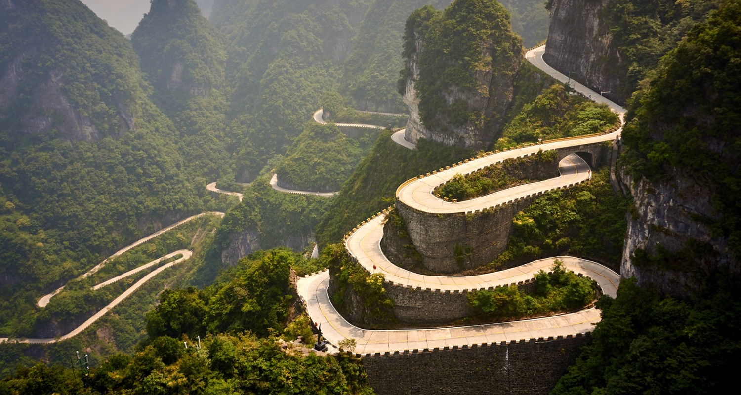
[[(623, 277), (686, 296), (720, 266), (739, 274), (728, 240), (711, 228), (719, 218), (711, 201), (714, 192), (707, 185), (681, 171), (661, 182), (633, 180), (625, 173), (623, 177), (631, 185), (636, 208), (628, 218), (620, 267)], [(643, 251), (649, 256), (674, 256), (663, 265), (652, 265), (642, 258)]]

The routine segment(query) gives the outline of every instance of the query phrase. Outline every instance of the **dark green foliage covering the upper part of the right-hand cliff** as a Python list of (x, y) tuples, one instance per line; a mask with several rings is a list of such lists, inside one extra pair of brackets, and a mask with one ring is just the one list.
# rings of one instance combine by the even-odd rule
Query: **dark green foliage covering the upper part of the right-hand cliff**
[(682, 174), (712, 191), (711, 228), (728, 239), (734, 256), (741, 256), (740, 24), (741, 2), (723, 1), (662, 59), (635, 96), (621, 156), (634, 177), (672, 182)]

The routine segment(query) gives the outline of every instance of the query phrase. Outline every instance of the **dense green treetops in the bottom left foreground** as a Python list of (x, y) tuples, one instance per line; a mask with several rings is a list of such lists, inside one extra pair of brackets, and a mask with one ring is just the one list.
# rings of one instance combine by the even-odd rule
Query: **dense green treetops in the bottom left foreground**
[(147, 338), (136, 352), (99, 361), (84, 379), (62, 365), (20, 368), (0, 381), (0, 394), (373, 394), (349, 353), (281, 348), (278, 333), (314, 339), (307, 316), (286, 325), (295, 302), (290, 265), (298, 258), (285, 249), (262, 251), (210, 287), (167, 290), (147, 314)]

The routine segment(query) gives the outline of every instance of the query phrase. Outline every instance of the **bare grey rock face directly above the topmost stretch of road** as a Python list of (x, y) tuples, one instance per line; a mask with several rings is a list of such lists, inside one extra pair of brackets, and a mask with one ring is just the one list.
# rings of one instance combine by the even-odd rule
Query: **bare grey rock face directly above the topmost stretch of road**
[(600, 14), (611, 0), (554, 0), (551, 28), (543, 59), (564, 74), (595, 92), (610, 91), (605, 96), (623, 103), (618, 87), (622, 62), (605, 19)]

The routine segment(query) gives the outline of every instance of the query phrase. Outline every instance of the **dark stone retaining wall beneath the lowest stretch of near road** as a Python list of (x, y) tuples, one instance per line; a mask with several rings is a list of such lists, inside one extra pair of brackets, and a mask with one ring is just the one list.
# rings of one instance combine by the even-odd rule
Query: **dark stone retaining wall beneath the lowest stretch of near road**
[(590, 336), (364, 356), (379, 395), (547, 394)]

